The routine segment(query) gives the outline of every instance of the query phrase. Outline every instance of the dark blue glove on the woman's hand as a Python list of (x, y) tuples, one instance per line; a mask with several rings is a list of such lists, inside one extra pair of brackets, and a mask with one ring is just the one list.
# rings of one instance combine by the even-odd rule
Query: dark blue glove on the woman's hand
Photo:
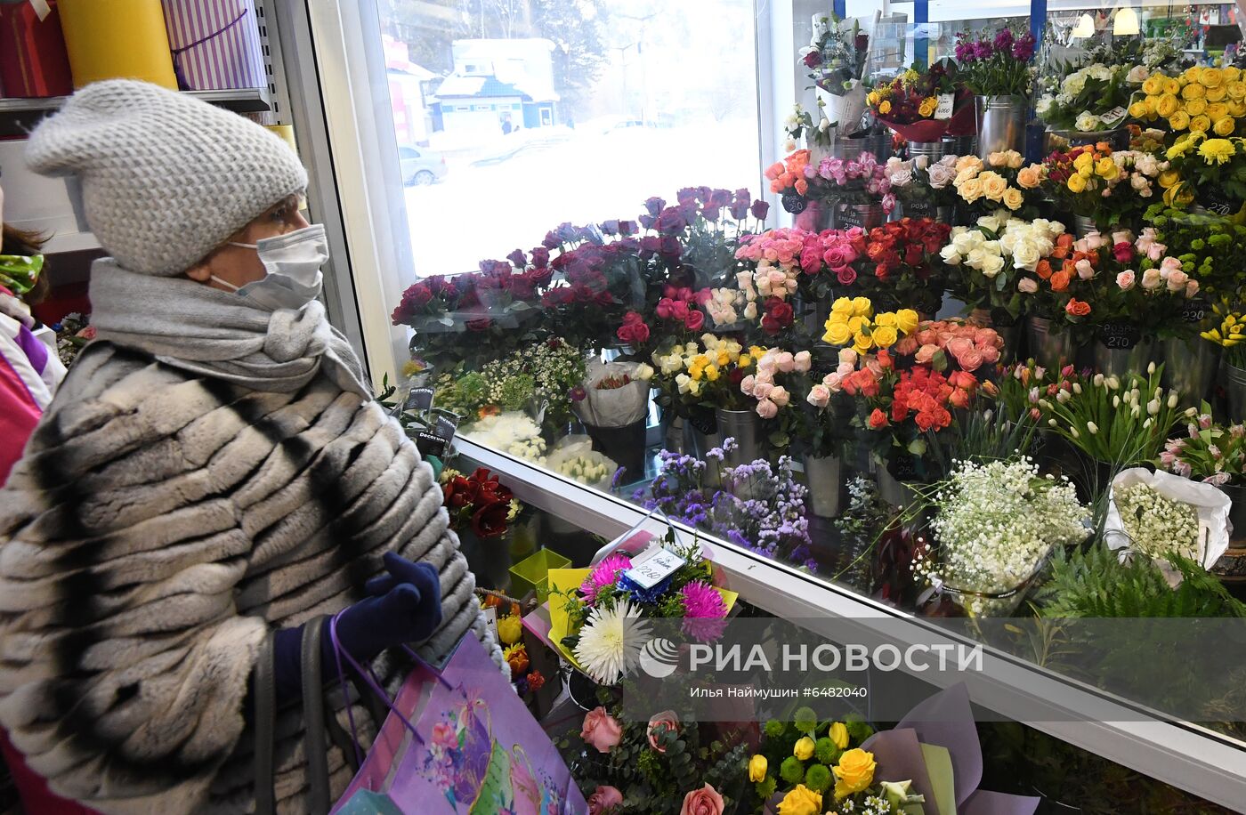
[[(338, 618), (338, 642), (358, 662), (395, 646), (427, 639), (441, 624), (441, 579), (431, 563), (411, 561), (386, 552), (385, 574), (368, 581), (371, 597), (346, 608)], [(328, 621), (324, 623), (328, 626)], [(273, 642), (274, 670), (279, 698), (303, 695), (300, 651), (303, 627), (283, 628)], [(338, 670), (333, 639), (324, 631), (320, 638), (321, 670)], [(345, 665), (345, 660), (343, 660)]]

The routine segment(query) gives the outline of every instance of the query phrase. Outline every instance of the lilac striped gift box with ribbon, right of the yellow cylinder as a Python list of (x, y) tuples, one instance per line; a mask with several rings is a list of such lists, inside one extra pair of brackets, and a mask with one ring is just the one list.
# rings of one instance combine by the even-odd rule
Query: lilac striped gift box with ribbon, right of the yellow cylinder
[(267, 87), (253, 0), (162, 0), (184, 91)]

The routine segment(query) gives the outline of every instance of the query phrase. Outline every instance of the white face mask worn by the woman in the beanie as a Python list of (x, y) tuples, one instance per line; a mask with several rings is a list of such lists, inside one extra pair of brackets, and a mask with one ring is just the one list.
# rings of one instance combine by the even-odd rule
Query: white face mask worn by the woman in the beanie
[(240, 288), (214, 274), (212, 280), (233, 289), (255, 305), (272, 312), (298, 310), (320, 295), (324, 280), (320, 267), (329, 260), (329, 239), (324, 234), (324, 224), (314, 223), (257, 243), (231, 241), (229, 245), (254, 249), (268, 275)]

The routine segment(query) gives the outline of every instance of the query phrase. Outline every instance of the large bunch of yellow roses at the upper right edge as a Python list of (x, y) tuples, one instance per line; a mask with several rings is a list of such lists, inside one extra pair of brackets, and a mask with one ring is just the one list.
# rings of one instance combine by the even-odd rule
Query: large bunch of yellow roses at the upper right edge
[(1176, 76), (1153, 74), (1129, 105), (1129, 115), (1174, 135), (1229, 137), (1246, 117), (1246, 77), (1237, 67), (1191, 67)]

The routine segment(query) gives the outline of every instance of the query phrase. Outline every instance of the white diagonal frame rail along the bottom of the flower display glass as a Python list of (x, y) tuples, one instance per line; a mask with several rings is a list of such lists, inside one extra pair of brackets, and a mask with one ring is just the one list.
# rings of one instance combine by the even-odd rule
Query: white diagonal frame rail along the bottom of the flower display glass
[[(611, 540), (638, 525), (650, 531), (663, 526), (622, 498), (470, 439), (460, 436), (456, 447), (475, 465), (501, 475), (521, 502), (573, 521), (593, 535)], [(685, 542), (706, 538), (703, 531), (678, 522), (674, 526)], [(710, 560), (743, 599), (815, 633), (842, 638), (846, 631), (856, 629), (863, 637), (883, 636), (900, 646), (967, 642), (930, 621), (718, 538), (711, 538), (711, 550)], [(1241, 811), (1246, 744), (1168, 719), (1013, 655), (991, 648), (984, 654), (983, 670), (964, 679), (976, 704), (1007, 717), (1025, 710), (1028, 715), (1017, 718), (1022, 724)], [(931, 674), (922, 678), (934, 679)]]

